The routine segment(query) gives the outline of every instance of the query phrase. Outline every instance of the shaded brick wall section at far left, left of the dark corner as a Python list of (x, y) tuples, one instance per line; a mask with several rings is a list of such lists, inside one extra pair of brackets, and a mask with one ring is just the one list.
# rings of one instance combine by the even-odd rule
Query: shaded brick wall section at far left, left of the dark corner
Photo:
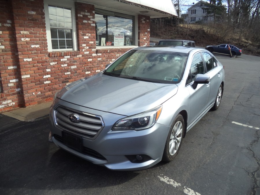
[(0, 111), (23, 105), (12, 2), (0, 0)]

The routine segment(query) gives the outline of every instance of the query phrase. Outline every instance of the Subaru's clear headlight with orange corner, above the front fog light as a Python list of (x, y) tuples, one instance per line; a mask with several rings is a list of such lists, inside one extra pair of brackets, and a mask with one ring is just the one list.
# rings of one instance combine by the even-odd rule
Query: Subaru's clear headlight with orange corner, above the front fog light
[(152, 127), (159, 118), (162, 105), (146, 112), (118, 120), (112, 130), (142, 130)]

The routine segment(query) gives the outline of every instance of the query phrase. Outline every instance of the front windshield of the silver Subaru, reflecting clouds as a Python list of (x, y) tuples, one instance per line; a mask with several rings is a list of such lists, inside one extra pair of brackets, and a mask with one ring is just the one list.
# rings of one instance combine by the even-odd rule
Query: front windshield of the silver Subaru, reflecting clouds
[(187, 53), (156, 50), (131, 50), (104, 72), (105, 75), (157, 83), (178, 83)]

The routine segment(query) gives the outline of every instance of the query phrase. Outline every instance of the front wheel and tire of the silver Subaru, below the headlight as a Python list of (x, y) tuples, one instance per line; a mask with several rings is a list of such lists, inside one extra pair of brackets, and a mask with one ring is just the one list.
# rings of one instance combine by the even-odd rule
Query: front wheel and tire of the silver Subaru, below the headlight
[(181, 114), (178, 114), (172, 123), (169, 131), (162, 160), (165, 162), (172, 161), (178, 154), (184, 135), (184, 119)]

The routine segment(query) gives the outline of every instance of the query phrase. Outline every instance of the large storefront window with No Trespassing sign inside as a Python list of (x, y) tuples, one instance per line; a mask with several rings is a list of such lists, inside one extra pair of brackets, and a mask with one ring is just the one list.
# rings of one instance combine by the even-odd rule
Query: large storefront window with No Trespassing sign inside
[(134, 16), (95, 9), (96, 46), (134, 45)]

